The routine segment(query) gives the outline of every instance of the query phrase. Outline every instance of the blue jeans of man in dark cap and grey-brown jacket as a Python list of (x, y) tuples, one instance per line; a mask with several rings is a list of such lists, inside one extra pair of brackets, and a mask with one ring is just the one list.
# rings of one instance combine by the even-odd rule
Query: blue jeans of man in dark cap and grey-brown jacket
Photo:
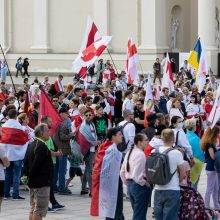
[(67, 168), (67, 155), (63, 155), (59, 158), (59, 190), (62, 191), (65, 189), (65, 176), (66, 176), (66, 168)]

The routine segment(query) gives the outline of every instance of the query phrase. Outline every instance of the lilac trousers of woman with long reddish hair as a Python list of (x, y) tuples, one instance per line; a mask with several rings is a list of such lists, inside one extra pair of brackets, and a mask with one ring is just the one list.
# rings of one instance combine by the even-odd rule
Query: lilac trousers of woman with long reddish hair
[(218, 177), (215, 171), (206, 171), (207, 174), (207, 184), (205, 192), (205, 207), (210, 208), (210, 198), (212, 195), (213, 203), (215, 209), (220, 209), (218, 204)]

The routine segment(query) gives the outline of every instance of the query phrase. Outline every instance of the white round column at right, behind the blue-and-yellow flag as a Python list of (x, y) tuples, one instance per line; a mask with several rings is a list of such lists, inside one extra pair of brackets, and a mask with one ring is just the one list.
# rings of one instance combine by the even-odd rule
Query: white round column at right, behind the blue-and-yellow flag
[(217, 47), (215, 42), (215, 0), (198, 0), (198, 37), (204, 42), (207, 57), (214, 74), (217, 74)]

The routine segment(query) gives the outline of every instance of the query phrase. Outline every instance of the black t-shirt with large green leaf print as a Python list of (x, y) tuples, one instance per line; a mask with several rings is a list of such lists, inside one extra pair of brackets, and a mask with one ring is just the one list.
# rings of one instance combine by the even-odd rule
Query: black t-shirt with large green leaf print
[(102, 117), (95, 116), (93, 118), (93, 123), (96, 128), (96, 134), (98, 139), (103, 139), (106, 137), (106, 129), (108, 128), (108, 116), (104, 114)]

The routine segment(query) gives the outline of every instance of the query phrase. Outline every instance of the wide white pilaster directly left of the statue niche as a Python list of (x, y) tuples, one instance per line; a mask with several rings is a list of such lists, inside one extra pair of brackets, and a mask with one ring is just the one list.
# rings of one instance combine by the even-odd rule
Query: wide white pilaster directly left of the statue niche
[(139, 50), (144, 53), (161, 53), (168, 49), (166, 25), (166, 0), (138, 2)]

